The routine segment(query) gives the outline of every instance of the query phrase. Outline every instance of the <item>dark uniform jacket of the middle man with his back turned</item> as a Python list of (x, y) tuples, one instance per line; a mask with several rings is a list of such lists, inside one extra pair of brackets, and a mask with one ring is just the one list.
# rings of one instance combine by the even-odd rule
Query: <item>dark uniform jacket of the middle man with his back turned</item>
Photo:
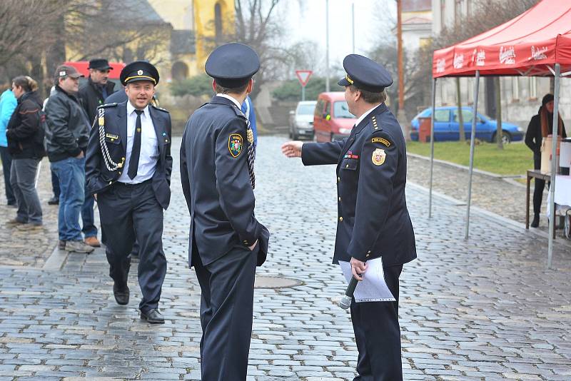
[(266, 260), (270, 235), (254, 217), (247, 156), (246, 118), (229, 99), (214, 96), (188, 119), (181, 181), (191, 214), (189, 266), (193, 254), (208, 265), (233, 246), (250, 246), (256, 240), (258, 266)]

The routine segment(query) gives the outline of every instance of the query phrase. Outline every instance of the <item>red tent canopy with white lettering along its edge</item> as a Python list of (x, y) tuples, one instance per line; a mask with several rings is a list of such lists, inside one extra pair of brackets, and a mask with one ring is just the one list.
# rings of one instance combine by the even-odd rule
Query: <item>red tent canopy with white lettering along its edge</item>
[(571, 71), (571, 1), (542, 0), (515, 19), (434, 52), (434, 78), (553, 76)]

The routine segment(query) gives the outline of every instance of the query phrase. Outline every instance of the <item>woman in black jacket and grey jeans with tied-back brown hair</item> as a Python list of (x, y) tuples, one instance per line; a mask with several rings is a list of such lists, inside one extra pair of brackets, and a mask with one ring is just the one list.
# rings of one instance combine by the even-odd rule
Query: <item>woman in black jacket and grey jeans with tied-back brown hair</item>
[(36, 191), (36, 173), (44, 149), (44, 129), (40, 123), (41, 101), (38, 84), (29, 76), (17, 76), (12, 81), (12, 92), (18, 106), (6, 129), (8, 150), (12, 156), (10, 183), (16, 195), (18, 210), (11, 225), (28, 230), (41, 227), (42, 212)]

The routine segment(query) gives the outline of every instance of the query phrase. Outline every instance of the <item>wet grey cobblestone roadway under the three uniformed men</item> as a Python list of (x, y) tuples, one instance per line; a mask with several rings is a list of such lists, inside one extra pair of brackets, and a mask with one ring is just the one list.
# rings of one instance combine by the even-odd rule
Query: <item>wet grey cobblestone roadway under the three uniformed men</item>
[[(250, 380), (352, 380), (356, 348), (345, 281), (330, 264), (335, 168), (303, 168), (263, 137), (257, 215), (273, 233), (258, 276), (298, 280), (258, 288)], [(175, 143), (180, 143), (176, 139)], [(176, 154), (176, 149), (173, 149)], [(66, 257), (61, 270), (0, 267), (0, 381), (199, 380), (199, 288), (186, 268), (188, 212), (173, 172), (164, 243), (165, 325), (138, 319), (140, 291), (116, 305), (103, 250)], [(409, 186), (419, 260), (401, 276), (405, 380), (571, 380), (571, 253), (477, 210), (463, 240), (465, 208)], [(561, 241), (561, 240), (558, 240)]]

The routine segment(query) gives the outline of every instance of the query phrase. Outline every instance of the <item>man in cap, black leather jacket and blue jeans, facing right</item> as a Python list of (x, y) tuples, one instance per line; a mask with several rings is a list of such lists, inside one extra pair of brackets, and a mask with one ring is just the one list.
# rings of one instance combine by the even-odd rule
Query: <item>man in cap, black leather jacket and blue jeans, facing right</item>
[(76, 94), (79, 73), (71, 66), (59, 66), (55, 73), (56, 92), (46, 104), (49, 131), (46, 147), (51, 168), (59, 180), (59, 248), (91, 253), (79, 228), (79, 215), (85, 200), (85, 150), (90, 123)]

